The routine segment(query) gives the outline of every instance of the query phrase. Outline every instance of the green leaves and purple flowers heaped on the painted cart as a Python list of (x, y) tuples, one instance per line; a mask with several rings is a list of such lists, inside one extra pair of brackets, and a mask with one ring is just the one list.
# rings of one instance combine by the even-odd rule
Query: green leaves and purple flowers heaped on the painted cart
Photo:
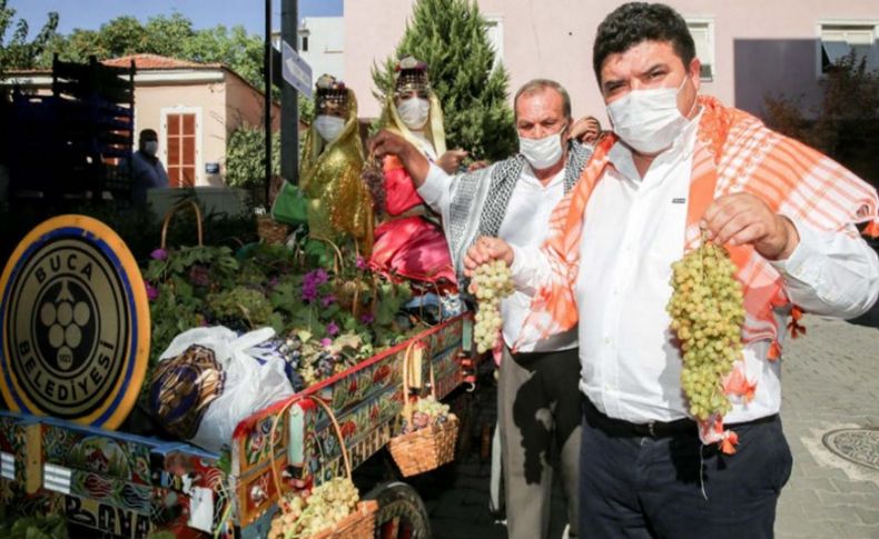
[(270, 326), (299, 390), (405, 340), (419, 323), (402, 313), (412, 298), (408, 283), (373, 273), (354, 249), (318, 240), (293, 249), (258, 243), (237, 253), (228, 247), (157, 249), (150, 258), (144, 271), (150, 366), (187, 329)]

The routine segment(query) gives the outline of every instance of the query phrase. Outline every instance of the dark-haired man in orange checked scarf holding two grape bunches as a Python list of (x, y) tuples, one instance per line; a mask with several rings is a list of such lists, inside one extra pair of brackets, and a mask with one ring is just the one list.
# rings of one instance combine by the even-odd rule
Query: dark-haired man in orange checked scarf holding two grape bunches
[[(593, 67), (614, 136), (551, 218), (545, 248), (482, 238), (465, 266), (512, 263), (516, 287), (537, 298), (523, 342), (577, 326), (583, 533), (772, 537), (792, 466), (778, 417), (781, 335), (800, 309), (850, 318), (876, 302), (879, 260), (855, 227), (876, 228), (876, 190), (698, 96), (692, 37), (668, 6), (612, 12)], [(671, 264), (700, 229), (730, 250), (747, 312), (737, 377), (722, 381), (732, 410), (708, 423), (690, 415), (665, 311)]]

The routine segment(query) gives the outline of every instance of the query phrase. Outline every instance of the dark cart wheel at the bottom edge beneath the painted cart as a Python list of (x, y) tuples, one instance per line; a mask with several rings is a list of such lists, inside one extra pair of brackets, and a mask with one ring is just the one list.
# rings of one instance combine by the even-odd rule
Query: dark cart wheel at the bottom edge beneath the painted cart
[(376, 539), (429, 539), (431, 519), (418, 492), (401, 481), (375, 487), (365, 499), (378, 502)]

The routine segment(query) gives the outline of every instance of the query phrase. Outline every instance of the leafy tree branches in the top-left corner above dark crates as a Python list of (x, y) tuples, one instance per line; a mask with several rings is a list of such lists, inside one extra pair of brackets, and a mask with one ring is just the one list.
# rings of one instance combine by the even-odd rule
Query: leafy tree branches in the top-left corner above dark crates
[[(32, 41), (28, 41), (30, 28), (20, 19), (14, 23), (14, 32), (7, 40), (7, 31), (13, 27), (16, 10), (8, 7), (8, 0), (0, 0), (0, 76), (3, 70), (28, 69), (46, 58), (47, 46), (58, 36), (58, 13), (50, 11), (48, 20)], [(51, 54), (48, 54), (51, 62)]]

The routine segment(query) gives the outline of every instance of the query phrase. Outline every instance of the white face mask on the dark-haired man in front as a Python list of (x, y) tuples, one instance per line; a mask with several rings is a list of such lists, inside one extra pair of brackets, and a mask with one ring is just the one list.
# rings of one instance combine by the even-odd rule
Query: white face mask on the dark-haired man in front
[[(653, 154), (671, 147), (690, 121), (678, 109), (675, 88), (632, 90), (608, 106), (613, 131), (640, 153)], [(695, 102), (693, 102), (695, 107)]]

